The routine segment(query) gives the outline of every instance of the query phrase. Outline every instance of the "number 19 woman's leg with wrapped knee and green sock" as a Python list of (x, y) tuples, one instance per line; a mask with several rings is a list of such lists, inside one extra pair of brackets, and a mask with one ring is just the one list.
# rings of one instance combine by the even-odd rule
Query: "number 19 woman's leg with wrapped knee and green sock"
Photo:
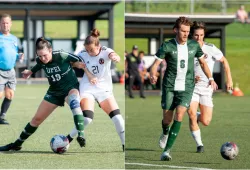
[(84, 139), (84, 120), (82, 115), (82, 110), (80, 107), (80, 96), (77, 90), (71, 90), (68, 95), (68, 104), (74, 116), (75, 127), (78, 130), (77, 142), (81, 147), (86, 145), (86, 141)]

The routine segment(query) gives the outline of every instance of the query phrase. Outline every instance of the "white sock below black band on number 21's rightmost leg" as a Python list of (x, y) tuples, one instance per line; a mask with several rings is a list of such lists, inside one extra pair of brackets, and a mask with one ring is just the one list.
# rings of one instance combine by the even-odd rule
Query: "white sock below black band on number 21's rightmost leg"
[(112, 121), (115, 124), (116, 131), (121, 139), (122, 145), (125, 144), (125, 128), (124, 128), (124, 119), (122, 115), (118, 114), (112, 117)]

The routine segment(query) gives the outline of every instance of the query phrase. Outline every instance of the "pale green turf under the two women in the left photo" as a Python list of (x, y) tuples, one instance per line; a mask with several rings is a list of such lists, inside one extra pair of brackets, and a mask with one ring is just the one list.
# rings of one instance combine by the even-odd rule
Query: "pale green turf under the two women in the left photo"
[[(114, 85), (114, 94), (124, 115), (125, 98), (122, 85)], [(47, 90), (47, 85), (19, 85), (7, 113), (11, 125), (0, 125), (0, 145), (17, 139), (31, 120)], [(121, 169), (124, 152), (113, 122), (96, 106), (94, 121), (85, 131), (87, 144), (80, 148), (74, 140), (65, 154), (50, 149), (56, 134), (68, 134), (74, 127), (73, 116), (66, 105), (57, 108), (18, 152), (0, 153), (0, 169)]]

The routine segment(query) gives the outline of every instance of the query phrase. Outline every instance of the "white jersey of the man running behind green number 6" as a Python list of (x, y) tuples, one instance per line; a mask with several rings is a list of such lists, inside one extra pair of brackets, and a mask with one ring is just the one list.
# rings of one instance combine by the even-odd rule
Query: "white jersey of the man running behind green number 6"
[[(223, 57), (223, 53), (217, 47), (215, 47), (215, 45), (206, 42), (203, 44), (201, 49), (203, 53), (206, 54), (205, 60), (207, 62), (209, 70), (213, 74), (214, 63), (215, 61), (219, 61)], [(209, 80), (205, 75), (205, 73), (202, 71), (200, 63), (197, 58), (195, 58), (194, 60), (194, 65), (195, 65), (194, 67), (195, 76), (200, 76), (200, 81), (196, 83), (196, 85), (198, 86), (207, 85)]]

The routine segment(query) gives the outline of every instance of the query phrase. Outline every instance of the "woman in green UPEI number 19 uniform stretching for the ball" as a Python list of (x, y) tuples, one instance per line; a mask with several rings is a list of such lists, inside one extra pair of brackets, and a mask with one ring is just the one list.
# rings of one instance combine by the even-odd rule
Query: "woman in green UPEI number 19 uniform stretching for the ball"
[[(64, 106), (65, 101), (73, 113), (75, 127), (78, 131), (77, 141), (81, 147), (85, 146), (79, 83), (71, 66), (71, 63), (79, 62), (81, 59), (64, 51), (52, 51), (51, 43), (44, 38), (37, 39), (36, 53), (37, 64), (31, 70), (23, 71), (23, 77), (28, 78), (31, 74), (43, 69), (50, 84), (49, 89), (36, 114), (26, 125), (19, 138), (14, 143), (0, 147), (0, 151), (20, 150), (23, 142), (58, 106)], [(87, 70), (85, 69), (85, 71)]]

